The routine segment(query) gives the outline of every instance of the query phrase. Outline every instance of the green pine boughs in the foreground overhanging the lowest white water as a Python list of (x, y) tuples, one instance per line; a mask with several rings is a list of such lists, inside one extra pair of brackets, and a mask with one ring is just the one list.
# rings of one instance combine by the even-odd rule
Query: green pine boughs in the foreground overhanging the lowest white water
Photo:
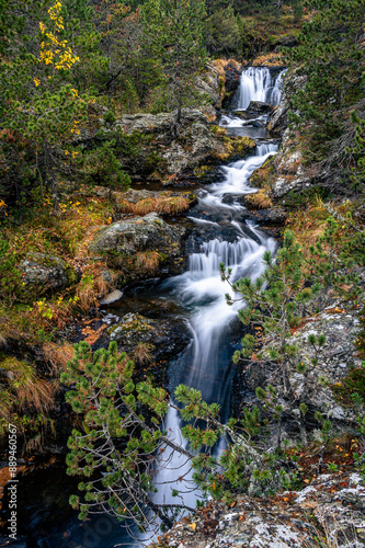
[[(231, 419), (223, 424), (219, 406), (207, 404), (198, 390), (180, 385), (175, 390), (180, 409), (163, 388), (150, 381), (136, 384), (133, 364), (118, 354), (115, 342), (94, 354), (84, 342), (75, 350), (61, 380), (70, 387), (66, 399), (80, 418), (67, 456), (68, 473), (85, 478), (79, 484), (83, 494), (70, 499), (80, 510), (80, 518), (107, 512), (145, 529), (156, 517), (171, 526), (186, 510), (179, 490), (184, 479), (181, 472), (176, 470), (171, 494), (182, 502), (157, 503), (151, 495), (156, 491), (153, 475), (161, 466), (169, 466), (171, 452), (186, 457), (194, 470), (194, 483), (182, 483), (183, 491), (198, 487), (203, 495), (231, 500), (237, 492), (260, 494), (288, 487), (289, 475), (275, 454), (264, 453), (251, 439), (261, 432), (259, 409), (247, 411), (242, 423)], [(163, 430), (169, 408), (181, 413), (185, 422), (182, 434), (190, 448), (174, 438), (174, 432)], [(217, 459), (213, 448), (220, 436), (227, 449)]]

